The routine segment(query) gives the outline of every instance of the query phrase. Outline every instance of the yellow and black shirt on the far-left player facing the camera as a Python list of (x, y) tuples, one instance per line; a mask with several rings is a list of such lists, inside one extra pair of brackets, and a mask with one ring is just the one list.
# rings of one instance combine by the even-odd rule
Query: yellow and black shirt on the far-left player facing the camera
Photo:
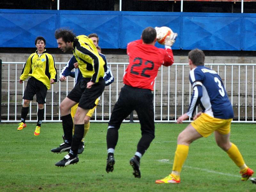
[(39, 56), (36, 50), (35, 53), (32, 53), (28, 57), (21, 72), (20, 79), (25, 81), (28, 76), (35, 77), (49, 90), (51, 87), (50, 79), (54, 79), (56, 83), (58, 81), (58, 75), (52, 55), (45, 51), (44, 49), (44, 52)]

